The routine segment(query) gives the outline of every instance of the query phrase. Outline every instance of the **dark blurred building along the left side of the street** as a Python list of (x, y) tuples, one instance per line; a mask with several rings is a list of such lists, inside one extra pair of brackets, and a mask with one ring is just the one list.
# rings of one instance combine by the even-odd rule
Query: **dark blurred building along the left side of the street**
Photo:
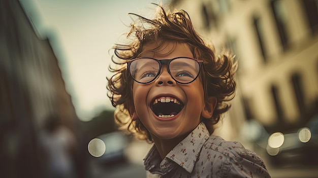
[(80, 131), (50, 41), (38, 38), (18, 0), (0, 1), (0, 51), (0, 176), (44, 177), (46, 117), (56, 113), (79, 140)]

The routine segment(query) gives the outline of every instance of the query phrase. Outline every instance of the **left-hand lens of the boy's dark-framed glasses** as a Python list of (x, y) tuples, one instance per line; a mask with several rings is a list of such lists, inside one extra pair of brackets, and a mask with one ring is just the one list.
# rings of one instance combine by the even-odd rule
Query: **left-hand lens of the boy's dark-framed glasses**
[(157, 76), (159, 67), (159, 63), (153, 59), (140, 58), (131, 63), (130, 72), (137, 82), (148, 83)]

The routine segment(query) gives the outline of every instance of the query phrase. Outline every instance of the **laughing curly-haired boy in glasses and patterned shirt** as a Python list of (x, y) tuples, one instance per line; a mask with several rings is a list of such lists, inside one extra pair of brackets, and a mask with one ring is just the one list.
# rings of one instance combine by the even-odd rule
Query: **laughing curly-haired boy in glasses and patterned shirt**
[(154, 143), (147, 176), (270, 177), (257, 154), (210, 136), (234, 97), (233, 56), (215, 57), (185, 11), (158, 8), (153, 20), (137, 15), (131, 43), (114, 47), (107, 87), (116, 121)]

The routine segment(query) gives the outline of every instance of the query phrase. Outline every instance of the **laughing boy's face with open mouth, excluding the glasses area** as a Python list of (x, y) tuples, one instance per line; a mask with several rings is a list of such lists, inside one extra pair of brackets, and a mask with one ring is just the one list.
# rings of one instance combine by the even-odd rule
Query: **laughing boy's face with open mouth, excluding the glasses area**
[[(146, 45), (140, 57), (194, 58), (186, 44), (167, 42), (155, 53), (149, 52), (156, 47), (156, 43)], [(152, 137), (159, 139), (183, 139), (198, 126), (205, 107), (203, 86), (199, 78), (189, 84), (177, 83), (169, 75), (167, 65), (162, 66), (161, 74), (151, 83), (140, 84), (134, 81), (133, 99), (138, 118)]]

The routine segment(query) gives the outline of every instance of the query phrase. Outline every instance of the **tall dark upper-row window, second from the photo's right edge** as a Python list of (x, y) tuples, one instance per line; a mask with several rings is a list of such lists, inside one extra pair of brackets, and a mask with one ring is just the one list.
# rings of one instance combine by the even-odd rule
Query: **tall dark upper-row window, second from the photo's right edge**
[(273, 15), (276, 22), (277, 31), (279, 34), (281, 46), (283, 50), (288, 49), (288, 35), (287, 35), (287, 21), (288, 21), (288, 15), (287, 10), (284, 5), (283, 0), (272, 0), (271, 1), (271, 8), (273, 10)]

